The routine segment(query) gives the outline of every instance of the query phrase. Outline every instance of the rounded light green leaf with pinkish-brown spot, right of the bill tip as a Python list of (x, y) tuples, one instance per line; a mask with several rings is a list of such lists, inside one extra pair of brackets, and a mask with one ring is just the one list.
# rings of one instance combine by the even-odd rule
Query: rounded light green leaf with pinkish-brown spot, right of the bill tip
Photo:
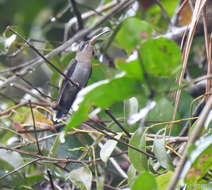
[(135, 49), (136, 45), (144, 42), (151, 37), (151, 26), (137, 19), (130, 17), (121, 24), (121, 29), (117, 33), (116, 39), (121, 48), (130, 52)]

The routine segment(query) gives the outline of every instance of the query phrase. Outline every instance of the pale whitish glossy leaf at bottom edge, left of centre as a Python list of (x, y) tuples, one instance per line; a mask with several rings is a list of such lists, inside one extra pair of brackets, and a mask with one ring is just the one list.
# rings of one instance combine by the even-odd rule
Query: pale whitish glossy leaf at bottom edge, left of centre
[(82, 190), (90, 190), (92, 184), (92, 173), (87, 167), (72, 170), (69, 174), (70, 180)]

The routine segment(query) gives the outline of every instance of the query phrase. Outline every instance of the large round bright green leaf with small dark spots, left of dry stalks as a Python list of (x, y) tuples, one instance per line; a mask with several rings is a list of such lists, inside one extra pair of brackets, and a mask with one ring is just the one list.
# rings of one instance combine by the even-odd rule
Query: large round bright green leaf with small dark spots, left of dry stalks
[(145, 72), (153, 76), (171, 76), (181, 65), (181, 53), (177, 44), (165, 38), (147, 40), (140, 54)]

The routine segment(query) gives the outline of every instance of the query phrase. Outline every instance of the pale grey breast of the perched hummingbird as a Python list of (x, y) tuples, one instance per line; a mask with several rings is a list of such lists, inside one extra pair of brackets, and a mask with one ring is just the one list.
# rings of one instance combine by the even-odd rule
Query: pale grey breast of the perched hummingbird
[(71, 79), (77, 82), (80, 87), (84, 87), (90, 77), (91, 65), (89, 63), (78, 63), (72, 74)]

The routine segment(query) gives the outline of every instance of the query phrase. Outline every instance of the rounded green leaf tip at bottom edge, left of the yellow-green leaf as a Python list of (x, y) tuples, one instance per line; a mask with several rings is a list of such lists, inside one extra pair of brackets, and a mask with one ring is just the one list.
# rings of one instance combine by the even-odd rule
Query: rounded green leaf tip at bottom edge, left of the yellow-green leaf
[(134, 181), (131, 190), (156, 190), (157, 183), (155, 177), (149, 172), (143, 172)]

